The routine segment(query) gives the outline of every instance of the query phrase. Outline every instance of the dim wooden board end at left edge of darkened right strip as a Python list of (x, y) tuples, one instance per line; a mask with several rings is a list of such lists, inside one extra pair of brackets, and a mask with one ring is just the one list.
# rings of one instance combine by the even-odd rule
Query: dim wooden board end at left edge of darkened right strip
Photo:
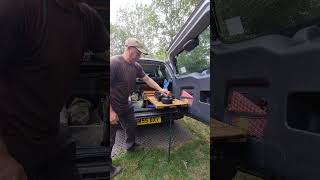
[(240, 128), (217, 120), (211, 120), (211, 142), (245, 142), (247, 133)]

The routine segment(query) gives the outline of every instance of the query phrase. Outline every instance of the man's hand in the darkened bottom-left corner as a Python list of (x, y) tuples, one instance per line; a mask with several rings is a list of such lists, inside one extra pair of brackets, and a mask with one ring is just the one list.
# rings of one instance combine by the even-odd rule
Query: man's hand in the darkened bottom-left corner
[(0, 154), (1, 180), (27, 180), (23, 167), (9, 154)]

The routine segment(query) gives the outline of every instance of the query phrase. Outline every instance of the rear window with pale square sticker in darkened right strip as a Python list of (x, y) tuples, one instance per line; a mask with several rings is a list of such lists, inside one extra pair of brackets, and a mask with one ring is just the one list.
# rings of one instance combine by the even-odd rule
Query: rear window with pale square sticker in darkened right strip
[(235, 42), (276, 33), (320, 18), (318, 0), (215, 0), (221, 40)]

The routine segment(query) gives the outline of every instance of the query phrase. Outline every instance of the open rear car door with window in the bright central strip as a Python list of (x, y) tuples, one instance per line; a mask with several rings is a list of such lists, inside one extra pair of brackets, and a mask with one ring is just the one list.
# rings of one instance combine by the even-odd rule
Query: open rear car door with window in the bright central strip
[(210, 119), (210, 1), (202, 1), (175, 36), (168, 53), (173, 92), (189, 103), (190, 115)]

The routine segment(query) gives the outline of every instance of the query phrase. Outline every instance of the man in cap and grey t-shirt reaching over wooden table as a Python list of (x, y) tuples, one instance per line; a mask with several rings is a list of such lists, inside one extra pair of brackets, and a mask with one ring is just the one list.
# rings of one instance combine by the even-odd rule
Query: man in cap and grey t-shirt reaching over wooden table
[[(126, 149), (134, 151), (138, 148), (135, 142), (136, 122), (134, 120), (133, 108), (128, 102), (130, 94), (133, 92), (136, 78), (142, 79), (148, 86), (160, 91), (164, 95), (169, 92), (162, 89), (155, 81), (149, 78), (137, 63), (141, 54), (147, 54), (142, 43), (136, 38), (128, 38), (125, 41), (122, 55), (111, 57), (110, 60), (110, 145), (111, 149), (115, 143), (115, 136), (120, 122), (126, 133)], [(112, 166), (111, 176), (120, 172), (119, 167)]]

